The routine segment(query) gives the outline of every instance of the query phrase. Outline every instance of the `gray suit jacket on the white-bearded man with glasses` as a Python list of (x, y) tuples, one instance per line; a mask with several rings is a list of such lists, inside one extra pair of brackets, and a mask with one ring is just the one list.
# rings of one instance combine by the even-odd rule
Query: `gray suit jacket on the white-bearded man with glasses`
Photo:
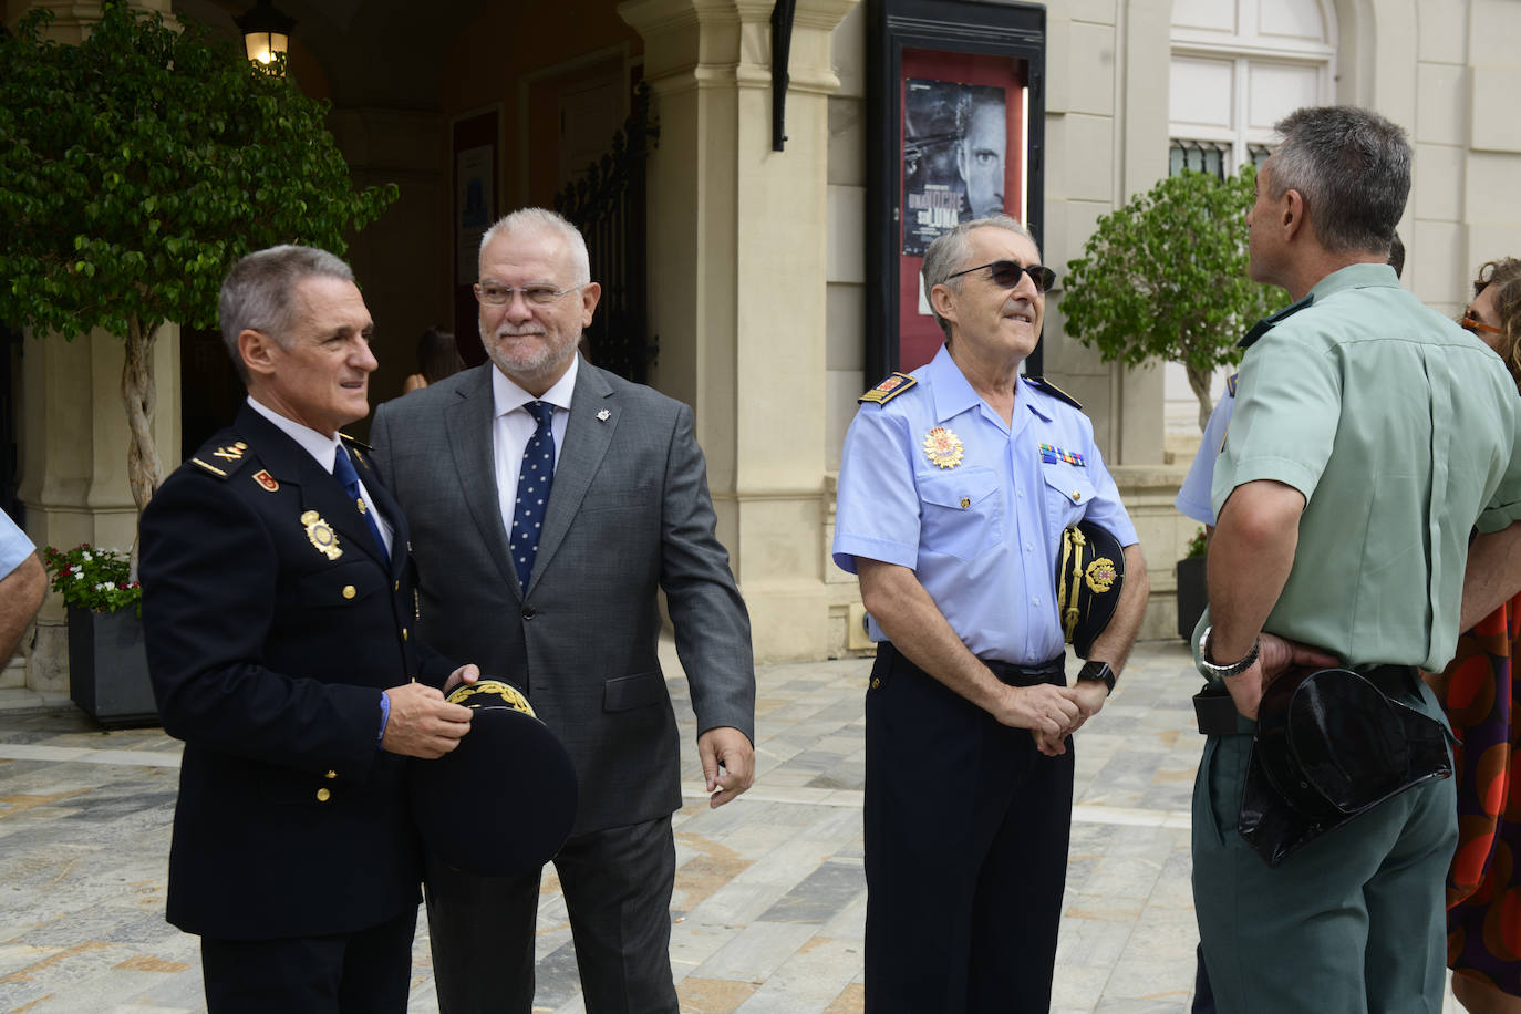
[(732, 725), (754, 740), (750, 619), (713, 534), (692, 409), (578, 365), (525, 594), (497, 506), (491, 369), (376, 410), (371, 458), (411, 524), (418, 632), (522, 687), (560, 736), (581, 783), (573, 833), (663, 816), (681, 789), (657, 588), (698, 733)]

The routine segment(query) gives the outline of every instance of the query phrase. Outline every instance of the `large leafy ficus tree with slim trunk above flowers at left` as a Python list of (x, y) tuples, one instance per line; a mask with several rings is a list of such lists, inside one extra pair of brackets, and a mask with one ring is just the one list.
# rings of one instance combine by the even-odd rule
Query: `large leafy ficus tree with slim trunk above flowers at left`
[[(141, 511), (164, 473), (149, 354), (160, 327), (213, 325), (221, 281), (248, 251), (310, 243), (342, 254), (345, 231), (373, 222), (397, 189), (354, 189), (327, 105), (283, 74), (283, 56), (254, 64), (201, 26), (166, 26), (125, 0), (106, 0), (78, 46), (46, 40), (50, 20), (38, 8), (0, 35), (0, 321), (120, 337), (128, 483)], [(135, 597), (99, 605), (135, 619)], [(85, 661), (78, 616), (71, 670)], [(116, 672), (138, 678), (128, 664)], [(87, 701), (119, 696), (96, 687), (75, 701), (91, 710)]]

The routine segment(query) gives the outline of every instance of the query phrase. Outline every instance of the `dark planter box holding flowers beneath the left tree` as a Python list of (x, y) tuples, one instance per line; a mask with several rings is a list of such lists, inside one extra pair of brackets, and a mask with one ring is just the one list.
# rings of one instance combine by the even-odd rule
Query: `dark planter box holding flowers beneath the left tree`
[(68, 610), (68, 696), (102, 725), (158, 725), (137, 610)]

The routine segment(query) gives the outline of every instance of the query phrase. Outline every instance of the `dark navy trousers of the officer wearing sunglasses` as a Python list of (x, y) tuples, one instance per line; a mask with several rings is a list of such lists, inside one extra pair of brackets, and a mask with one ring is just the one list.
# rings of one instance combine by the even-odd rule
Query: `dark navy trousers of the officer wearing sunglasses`
[[(1045, 675), (1005, 683), (1063, 684)], [(878, 646), (865, 704), (865, 1009), (1046, 1014), (1072, 819), (1072, 740), (1025, 728)]]

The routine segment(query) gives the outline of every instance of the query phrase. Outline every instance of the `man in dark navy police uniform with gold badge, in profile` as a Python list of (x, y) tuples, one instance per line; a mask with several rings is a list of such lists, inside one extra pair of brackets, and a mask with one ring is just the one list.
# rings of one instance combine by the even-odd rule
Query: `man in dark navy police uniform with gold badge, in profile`
[(405, 1011), (421, 854), (406, 760), (453, 749), (473, 680), (409, 637), (406, 520), (338, 427), (373, 324), (319, 249), (239, 261), (221, 325), (248, 403), (141, 520), (143, 628), (186, 742), (169, 921), (210, 1011)]

